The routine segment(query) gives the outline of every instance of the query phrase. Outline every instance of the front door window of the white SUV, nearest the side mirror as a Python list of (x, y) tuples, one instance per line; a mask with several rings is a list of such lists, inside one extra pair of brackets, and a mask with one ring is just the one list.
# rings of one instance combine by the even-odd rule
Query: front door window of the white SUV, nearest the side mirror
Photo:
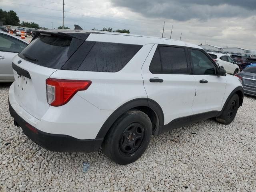
[(212, 63), (210, 58), (200, 50), (190, 50), (191, 62), (193, 65), (194, 74), (216, 74), (216, 66)]

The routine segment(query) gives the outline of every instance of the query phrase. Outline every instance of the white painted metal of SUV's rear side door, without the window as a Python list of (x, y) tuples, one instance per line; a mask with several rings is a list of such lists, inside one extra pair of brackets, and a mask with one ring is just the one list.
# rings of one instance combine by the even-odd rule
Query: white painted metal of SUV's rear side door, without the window
[[(193, 75), (152, 74), (148, 69), (154, 56), (157, 44), (154, 45), (146, 59), (141, 74), (148, 98), (156, 101), (164, 112), (164, 124), (172, 120), (192, 114), (195, 96), (195, 78)], [(157, 77), (164, 82), (150, 82)]]

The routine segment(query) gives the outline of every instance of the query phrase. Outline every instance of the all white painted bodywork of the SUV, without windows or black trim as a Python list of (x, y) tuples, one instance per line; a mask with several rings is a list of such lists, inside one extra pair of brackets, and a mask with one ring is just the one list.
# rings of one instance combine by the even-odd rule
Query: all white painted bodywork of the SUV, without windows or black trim
[[(13, 62), (27, 70), (32, 78), (18, 78), (14, 72), (15, 82), (9, 93), (11, 106), (26, 122), (43, 132), (94, 139), (114, 110), (130, 100), (150, 98), (156, 101), (164, 112), (164, 124), (168, 124), (176, 118), (191, 114), (220, 111), (232, 90), (241, 86), (237, 77), (229, 75), (152, 74), (149, 71), (156, 44), (200, 48), (196, 45), (163, 38), (111, 33), (90, 34), (87, 40), (144, 46), (122, 70), (115, 73), (56, 70), (15, 56)], [(17, 64), (18, 60), (22, 60), (22, 63)], [(92, 84), (87, 90), (77, 92), (67, 104), (53, 107), (46, 100), (46, 79), (49, 77), (91, 80)], [(149, 82), (154, 77), (162, 78), (164, 82)], [(208, 80), (207, 87), (199, 84), (203, 78)]]

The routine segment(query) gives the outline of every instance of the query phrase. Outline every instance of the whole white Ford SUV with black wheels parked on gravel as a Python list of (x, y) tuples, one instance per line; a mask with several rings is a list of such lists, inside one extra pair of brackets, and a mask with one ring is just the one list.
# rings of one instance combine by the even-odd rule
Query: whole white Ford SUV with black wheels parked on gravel
[(14, 57), (14, 123), (53, 151), (137, 160), (150, 137), (216, 117), (230, 124), (242, 84), (199, 46), (83, 30), (37, 31)]

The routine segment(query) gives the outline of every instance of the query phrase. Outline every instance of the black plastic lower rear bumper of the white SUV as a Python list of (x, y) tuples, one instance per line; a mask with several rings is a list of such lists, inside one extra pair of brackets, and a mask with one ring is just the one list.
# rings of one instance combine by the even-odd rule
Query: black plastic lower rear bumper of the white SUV
[(50, 134), (42, 132), (22, 119), (12, 108), (9, 102), (9, 110), (14, 121), (22, 128), (24, 134), (36, 144), (51, 151), (58, 152), (94, 152), (98, 151), (103, 139), (77, 139), (68, 135)]

